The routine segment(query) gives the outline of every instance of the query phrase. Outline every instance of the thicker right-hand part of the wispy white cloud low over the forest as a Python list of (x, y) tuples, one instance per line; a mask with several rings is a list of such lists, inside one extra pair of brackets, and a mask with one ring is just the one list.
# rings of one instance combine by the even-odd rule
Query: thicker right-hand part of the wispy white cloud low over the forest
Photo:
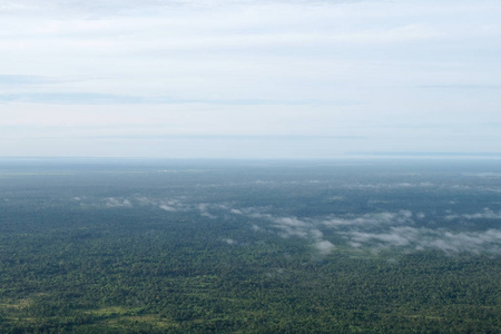
[[(327, 237), (341, 237), (353, 248), (406, 250), (435, 249), (446, 254), (458, 253), (501, 253), (501, 230), (451, 232), (444, 228), (416, 227), (414, 219), (425, 219), (424, 213), (411, 210), (383, 212), (364, 215), (344, 215), (328, 218), (299, 218), (295, 216), (274, 216), (272, 208), (229, 208), (234, 214), (267, 222), (265, 226), (253, 223), (254, 230), (274, 229), (284, 237), (310, 239), (321, 254), (331, 253), (335, 246)], [(451, 216), (446, 216), (451, 217)], [(481, 213), (456, 215), (468, 219), (500, 219), (501, 213), (485, 208)], [(327, 229), (325, 229), (327, 228)], [(322, 230), (324, 229), (324, 230)]]

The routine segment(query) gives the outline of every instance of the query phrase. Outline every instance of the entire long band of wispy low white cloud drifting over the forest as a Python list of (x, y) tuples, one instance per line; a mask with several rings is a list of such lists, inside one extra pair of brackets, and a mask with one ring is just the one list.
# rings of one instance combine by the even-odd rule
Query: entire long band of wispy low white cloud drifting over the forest
[[(107, 197), (94, 200), (86, 196), (75, 197), (81, 206), (100, 206), (114, 209), (140, 209), (149, 207), (173, 213), (196, 213), (210, 220), (227, 220), (238, 217), (248, 226), (248, 233), (274, 234), (282, 238), (299, 238), (308, 242), (320, 255), (328, 255), (336, 246), (352, 249), (402, 249), (405, 252), (440, 250), (445, 254), (494, 253), (501, 254), (501, 229), (451, 230), (446, 224), (431, 225), (424, 213), (379, 212), (372, 214), (345, 214), (325, 217), (296, 217), (275, 215), (273, 207), (236, 207), (228, 203), (198, 203), (186, 197), (153, 198), (146, 196)], [(233, 219), (233, 218), (232, 218)], [(435, 217), (436, 219), (436, 217)], [(442, 216), (442, 223), (453, 219), (501, 222), (501, 213), (484, 208), (479, 213)], [(237, 239), (222, 236), (222, 242), (237, 246)]]

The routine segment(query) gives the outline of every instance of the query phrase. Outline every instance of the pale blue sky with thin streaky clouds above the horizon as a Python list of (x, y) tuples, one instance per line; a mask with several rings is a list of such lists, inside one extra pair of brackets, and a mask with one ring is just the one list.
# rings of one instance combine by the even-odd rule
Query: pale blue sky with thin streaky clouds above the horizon
[(0, 0), (0, 156), (501, 153), (499, 0)]

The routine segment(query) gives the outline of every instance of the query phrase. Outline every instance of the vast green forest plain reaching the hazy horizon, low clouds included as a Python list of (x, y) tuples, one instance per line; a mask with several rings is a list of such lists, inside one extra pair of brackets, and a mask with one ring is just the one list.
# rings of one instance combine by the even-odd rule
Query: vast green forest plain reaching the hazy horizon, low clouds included
[(0, 161), (2, 333), (500, 333), (501, 164)]

